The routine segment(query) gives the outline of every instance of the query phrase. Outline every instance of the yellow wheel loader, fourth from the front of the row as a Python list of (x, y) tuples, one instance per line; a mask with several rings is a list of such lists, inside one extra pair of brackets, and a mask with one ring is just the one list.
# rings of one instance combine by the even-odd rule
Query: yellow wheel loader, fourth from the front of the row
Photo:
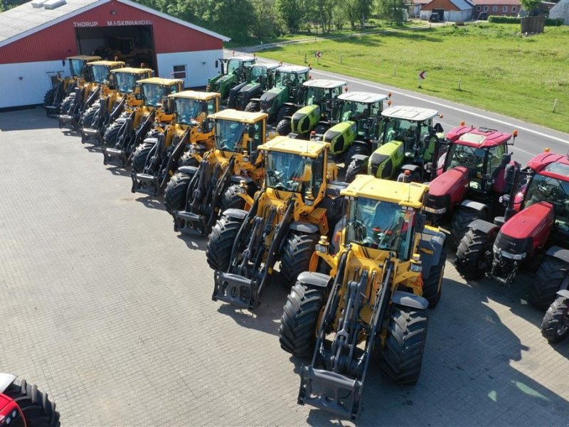
[(156, 127), (156, 137), (144, 139), (132, 156), (132, 192), (159, 196), (178, 167), (198, 166), (215, 146), (213, 128), (203, 126), (208, 115), (219, 110), (216, 92), (183, 92), (169, 95), (169, 112), (175, 122)]

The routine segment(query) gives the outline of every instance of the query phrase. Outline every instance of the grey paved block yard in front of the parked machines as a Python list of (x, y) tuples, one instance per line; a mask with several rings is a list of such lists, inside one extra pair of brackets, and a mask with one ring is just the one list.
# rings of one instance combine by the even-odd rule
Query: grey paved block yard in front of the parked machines
[[(255, 315), (213, 302), (205, 241), (126, 172), (39, 108), (0, 113), (0, 130), (0, 370), (47, 391), (63, 426), (350, 425), (297, 405), (277, 280)], [(541, 337), (531, 277), (446, 276), (418, 385), (372, 363), (358, 424), (568, 425), (569, 341)]]

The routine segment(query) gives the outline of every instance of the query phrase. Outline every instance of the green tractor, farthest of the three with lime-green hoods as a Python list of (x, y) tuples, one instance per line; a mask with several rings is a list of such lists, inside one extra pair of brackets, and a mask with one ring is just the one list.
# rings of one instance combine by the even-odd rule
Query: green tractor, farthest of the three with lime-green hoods
[(337, 122), (338, 96), (347, 90), (348, 83), (341, 80), (307, 80), (302, 83), (304, 107), (292, 117), (284, 117), (277, 124), (279, 135), (308, 139), (312, 131), (320, 137)]

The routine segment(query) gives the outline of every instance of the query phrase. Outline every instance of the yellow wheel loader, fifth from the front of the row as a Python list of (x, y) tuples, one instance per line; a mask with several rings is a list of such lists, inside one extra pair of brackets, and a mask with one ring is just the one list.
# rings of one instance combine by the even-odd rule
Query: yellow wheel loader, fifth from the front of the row
[(184, 80), (171, 78), (145, 78), (139, 80), (135, 91), (142, 100), (137, 107), (124, 107), (122, 114), (107, 126), (103, 136), (103, 164), (127, 167), (132, 162), (134, 149), (144, 141), (149, 131), (156, 125), (169, 125), (174, 122), (174, 113), (169, 112), (164, 103), (168, 95), (179, 93), (184, 88)]

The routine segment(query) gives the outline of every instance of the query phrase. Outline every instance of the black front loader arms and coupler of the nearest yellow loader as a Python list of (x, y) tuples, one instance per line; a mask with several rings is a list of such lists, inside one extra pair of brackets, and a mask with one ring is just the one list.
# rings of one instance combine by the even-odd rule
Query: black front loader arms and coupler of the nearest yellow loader
[[(361, 396), (373, 343), (388, 307), (393, 263), (390, 260), (385, 261), (382, 285), (377, 292), (371, 323), (368, 325), (361, 322), (359, 317), (364, 304), (371, 303), (368, 300), (371, 295), (368, 295), (366, 290), (368, 279), (373, 283), (374, 273), (369, 278), (368, 270), (356, 270), (356, 275), (360, 274), (359, 280), (350, 280), (346, 285), (342, 317), (337, 320), (337, 332), (332, 342), (329, 342), (326, 340), (326, 331), (330, 330), (338, 312), (339, 291), (344, 280), (347, 258), (348, 253), (344, 253), (326, 302), (324, 315), (321, 317), (312, 364), (301, 369), (298, 403), (309, 404), (355, 420), (361, 409)], [(361, 334), (367, 336), (363, 351), (358, 348)]]

